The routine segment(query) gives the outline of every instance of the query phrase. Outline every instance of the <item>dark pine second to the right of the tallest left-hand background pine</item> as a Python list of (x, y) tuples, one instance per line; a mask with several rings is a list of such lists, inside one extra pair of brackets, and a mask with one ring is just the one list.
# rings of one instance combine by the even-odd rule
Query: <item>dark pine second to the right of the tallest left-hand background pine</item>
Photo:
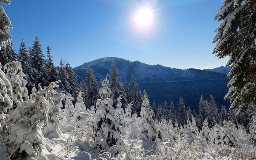
[(69, 92), (71, 90), (70, 84), (68, 82), (69, 77), (68, 77), (68, 74), (67, 74), (67, 72), (64, 68), (64, 63), (63, 63), (62, 59), (60, 60), (60, 69), (59, 69), (59, 72), (58, 72), (57, 79), (60, 80), (60, 83), (59, 83), (60, 91)]

